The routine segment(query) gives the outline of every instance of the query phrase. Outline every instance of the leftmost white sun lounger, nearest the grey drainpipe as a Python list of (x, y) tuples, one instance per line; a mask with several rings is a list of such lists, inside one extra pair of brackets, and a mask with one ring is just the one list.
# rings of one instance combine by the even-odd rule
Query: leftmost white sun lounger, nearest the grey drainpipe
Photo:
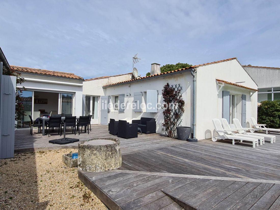
[[(224, 140), (232, 139), (232, 144), (234, 144), (235, 142), (239, 142), (239, 141), (251, 141), (253, 143), (253, 148), (256, 148), (256, 145), (259, 146), (258, 139), (253, 139), (253, 138), (244, 137), (244, 136), (236, 136), (234, 133), (232, 133), (232, 131), (235, 131), (235, 130), (223, 129), (223, 126), (219, 119), (215, 118), (212, 120), (212, 122), (214, 124), (216, 133), (218, 134), (217, 136), (212, 136), (212, 141), (217, 141), (217, 139), (224, 139)], [(231, 134), (228, 134), (228, 132), (231, 132)], [(238, 140), (238, 141), (235, 141), (235, 140)]]

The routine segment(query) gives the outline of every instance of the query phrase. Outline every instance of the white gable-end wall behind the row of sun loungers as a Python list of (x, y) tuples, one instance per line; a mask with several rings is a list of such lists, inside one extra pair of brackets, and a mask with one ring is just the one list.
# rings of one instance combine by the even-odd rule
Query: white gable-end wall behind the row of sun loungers
[[(246, 95), (246, 126), (251, 127), (250, 117), (257, 117), (257, 93), (250, 97), (253, 91), (248, 89), (240, 89), (235, 86), (224, 86), (219, 94), (217, 91), (216, 79), (236, 83), (240, 85), (257, 89), (257, 85), (244, 71), (237, 60), (230, 60), (217, 64), (201, 66), (197, 69), (197, 110), (196, 110), (196, 125), (197, 139), (211, 138), (214, 131), (212, 123), (213, 118), (222, 118), (222, 91), (226, 90), (230, 93)], [(218, 95), (217, 95), (218, 94)], [(241, 98), (237, 106), (237, 114), (241, 120)]]

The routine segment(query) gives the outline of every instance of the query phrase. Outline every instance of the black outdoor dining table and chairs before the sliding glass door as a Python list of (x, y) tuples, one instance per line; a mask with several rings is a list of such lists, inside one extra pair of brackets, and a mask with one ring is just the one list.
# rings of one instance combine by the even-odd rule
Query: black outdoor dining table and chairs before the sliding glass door
[[(50, 117), (39, 117), (35, 121), (32, 120), (32, 117), (29, 115), (29, 118), (31, 120), (31, 127), (30, 127), (30, 134), (32, 135), (33, 133), (33, 127), (38, 128), (38, 132), (42, 132), (42, 135), (45, 136), (45, 130), (48, 128), (48, 136), (50, 136), (50, 129), (52, 131), (55, 128), (58, 128), (58, 134), (60, 136), (62, 135), (62, 129), (65, 127), (71, 127), (72, 128), (72, 134), (76, 135), (76, 129), (78, 130), (78, 133), (80, 135), (80, 127), (81, 127), (81, 132), (83, 130), (83, 127), (85, 127), (86, 132), (88, 130), (91, 131), (90, 127), (90, 120), (91, 120), (92, 115), (88, 116), (72, 116), (71, 114), (64, 114), (62, 115), (53, 115)], [(64, 129), (65, 130), (65, 129)]]

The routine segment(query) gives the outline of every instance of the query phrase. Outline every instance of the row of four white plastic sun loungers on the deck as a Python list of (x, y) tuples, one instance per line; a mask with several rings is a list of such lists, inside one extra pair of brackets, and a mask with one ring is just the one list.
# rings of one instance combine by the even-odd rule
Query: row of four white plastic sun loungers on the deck
[[(267, 132), (280, 132), (280, 129), (270, 129), (266, 128), (264, 124), (257, 124), (255, 118), (251, 117), (254, 128), (243, 128), (240, 121), (237, 118), (232, 119), (235, 128), (231, 128), (228, 124), (227, 119), (222, 118), (221, 120), (215, 118), (212, 120), (217, 136), (212, 136), (212, 141), (217, 141), (217, 139), (232, 140), (232, 144), (250, 142), (253, 144), (253, 148), (256, 146), (263, 145), (265, 143), (264, 138), (269, 138), (270, 143), (273, 144), (276, 141), (276, 136), (255, 133), (255, 131), (266, 131)], [(249, 131), (249, 132), (247, 132)]]

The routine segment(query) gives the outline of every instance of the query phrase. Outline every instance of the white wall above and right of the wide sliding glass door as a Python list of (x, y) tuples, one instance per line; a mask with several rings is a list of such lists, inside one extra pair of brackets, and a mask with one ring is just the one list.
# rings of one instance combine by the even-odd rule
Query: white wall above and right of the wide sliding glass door
[(73, 110), (73, 115), (82, 115), (82, 80), (26, 73), (21, 73), (21, 75), (26, 81), (21, 86), (17, 87), (24, 86), (26, 90), (33, 91), (43, 90), (46, 92), (74, 94), (75, 110)]

